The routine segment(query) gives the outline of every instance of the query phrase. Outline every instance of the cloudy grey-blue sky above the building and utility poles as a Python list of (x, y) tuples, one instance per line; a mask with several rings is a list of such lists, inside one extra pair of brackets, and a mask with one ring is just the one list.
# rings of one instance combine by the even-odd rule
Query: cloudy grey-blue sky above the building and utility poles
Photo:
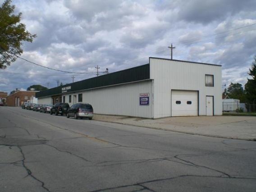
[[(0, 0), (0, 4), (4, 0)], [(255, 0), (13, 0), (37, 38), (0, 69), (0, 91), (56, 87), (147, 64), (149, 57), (222, 65), (222, 84), (247, 82), (256, 55)], [(100, 73), (105, 74), (105, 73)], [(223, 86), (224, 87), (224, 86)]]

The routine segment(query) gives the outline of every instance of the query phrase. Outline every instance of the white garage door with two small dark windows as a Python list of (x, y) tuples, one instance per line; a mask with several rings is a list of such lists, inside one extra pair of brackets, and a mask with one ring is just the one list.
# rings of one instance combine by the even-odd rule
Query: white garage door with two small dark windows
[(198, 92), (172, 90), (172, 117), (197, 116)]

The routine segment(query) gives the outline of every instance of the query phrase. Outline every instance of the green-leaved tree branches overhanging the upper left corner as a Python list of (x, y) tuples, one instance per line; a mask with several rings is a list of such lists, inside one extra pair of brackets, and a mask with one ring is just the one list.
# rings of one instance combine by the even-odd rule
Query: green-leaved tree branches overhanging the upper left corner
[(23, 50), (23, 41), (32, 42), (36, 35), (26, 30), (26, 26), (20, 23), (22, 13), (14, 14), (14, 5), (11, 0), (5, 0), (0, 7), (0, 69), (6, 69)]

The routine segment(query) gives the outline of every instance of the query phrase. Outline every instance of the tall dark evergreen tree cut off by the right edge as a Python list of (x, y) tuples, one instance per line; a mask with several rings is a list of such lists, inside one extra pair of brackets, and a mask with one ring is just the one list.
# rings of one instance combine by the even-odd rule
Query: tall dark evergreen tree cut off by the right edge
[(256, 104), (256, 55), (248, 74), (252, 79), (247, 78), (247, 83), (245, 84), (246, 99), (248, 103)]

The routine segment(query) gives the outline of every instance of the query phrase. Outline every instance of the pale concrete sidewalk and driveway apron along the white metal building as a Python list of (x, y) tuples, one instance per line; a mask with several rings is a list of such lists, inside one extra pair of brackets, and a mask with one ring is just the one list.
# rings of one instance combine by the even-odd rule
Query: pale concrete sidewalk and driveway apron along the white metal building
[(94, 120), (208, 137), (256, 141), (256, 117), (198, 116), (141, 119), (94, 114)]

